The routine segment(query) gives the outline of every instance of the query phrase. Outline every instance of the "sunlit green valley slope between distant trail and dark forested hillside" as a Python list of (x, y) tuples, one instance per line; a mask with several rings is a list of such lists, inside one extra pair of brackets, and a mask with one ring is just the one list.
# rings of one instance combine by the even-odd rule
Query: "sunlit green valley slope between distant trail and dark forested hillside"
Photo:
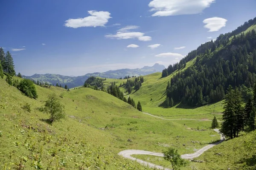
[[(193, 65), (195, 59), (192, 59), (187, 63), (186, 68)], [(180, 71), (183, 71), (184, 69)], [(161, 78), (161, 73), (154, 73), (144, 77), (144, 82), (142, 87), (138, 91), (133, 91), (129, 96), (131, 96), (135, 102), (140, 101), (143, 107), (143, 111), (157, 115), (164, 116), (167, 119), (212, 119), (213, 115), (216, 115), (218, 119), (221, 119), (221, 114), (223, 104), (218, 102), (212, 105), (203, 106), (200, 108), (184, 108), (180, 105), (176, 105), (172, 108), (160, 107), (161, 104), (166, 99), (166, 86), (167, 82), (177, 73), (177, 71), (168, 77)], [(134, 79), (134, 78), (131, 78)], [(105, 85), (109, 85), (111, 82), (116, 82), (116, 85), (123, 84), (126, 80), (123, 79), (107, 79)], [(127, 92), (124, 88), (120, 88), (125, 94)], [(151, 100), (152, 99), (152, 100)], [(217, 113), (217, 114), (215, 114)]]

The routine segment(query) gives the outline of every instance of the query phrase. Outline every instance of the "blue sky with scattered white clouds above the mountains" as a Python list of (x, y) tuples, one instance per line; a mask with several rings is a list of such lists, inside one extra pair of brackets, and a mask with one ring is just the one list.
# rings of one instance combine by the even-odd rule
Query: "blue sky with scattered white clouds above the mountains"
[(23, 75), (178, 62), (256, 17), (255, 0), (2, 0), (0, 46)]

